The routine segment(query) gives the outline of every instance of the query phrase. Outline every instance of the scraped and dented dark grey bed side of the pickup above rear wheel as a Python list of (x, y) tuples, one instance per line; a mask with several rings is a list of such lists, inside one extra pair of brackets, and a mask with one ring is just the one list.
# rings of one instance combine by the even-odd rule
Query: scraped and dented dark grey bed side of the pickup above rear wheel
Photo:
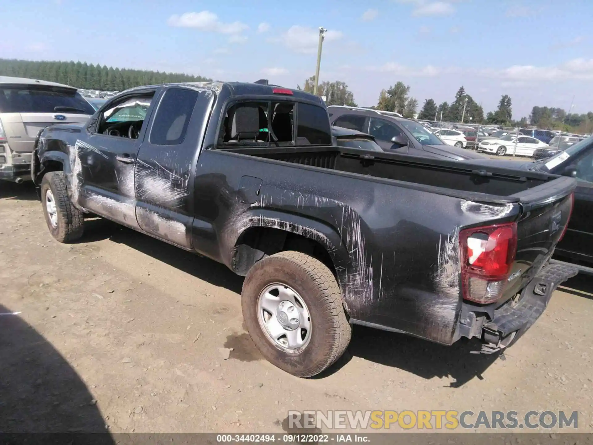
[[(251, 204), (237, 198), (246, 172), (262, 179)], [(330, 253), (352, 319), (444, 344), (453, 341), (461, 307), (459, 228), (519, 214), (517, 204), (477, 204), (422, 187), (215, 150), (200, 155), (195, 199), (194, 245), (205, 255), (232, 268), (235, 244), (247, 228), (300, 234)]]

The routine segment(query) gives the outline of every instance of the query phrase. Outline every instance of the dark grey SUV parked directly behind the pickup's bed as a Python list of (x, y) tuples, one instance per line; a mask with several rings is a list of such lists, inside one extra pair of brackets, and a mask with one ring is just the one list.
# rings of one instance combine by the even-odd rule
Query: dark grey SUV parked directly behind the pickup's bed
[(455, 161), (485, 158), (474, 151), (447, 145), (425, 126), (393, 113), (335, 105), (327, 107), (327, 112), (331, 125), (368, 133), (384, 151)]

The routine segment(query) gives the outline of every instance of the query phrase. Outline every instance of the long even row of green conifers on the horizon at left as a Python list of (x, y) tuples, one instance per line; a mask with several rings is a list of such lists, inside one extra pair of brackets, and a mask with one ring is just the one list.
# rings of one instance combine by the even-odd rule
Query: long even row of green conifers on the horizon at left
[(101, 91), (123, 91), (139, 85), (168, 82), (212, 80), (202, 76), (141, 69), (120, 69), (86, 62), (33, 62), (15, 59), (0, 59), (0, 75), (46, 80), (76, 88)]

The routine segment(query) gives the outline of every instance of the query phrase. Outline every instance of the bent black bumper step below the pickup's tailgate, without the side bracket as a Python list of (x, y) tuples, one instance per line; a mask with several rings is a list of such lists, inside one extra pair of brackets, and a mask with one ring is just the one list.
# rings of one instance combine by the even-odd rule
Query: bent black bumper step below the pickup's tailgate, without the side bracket
[(578, 274), (575, 267), (552, 263), (537, 274), (524, 288), (517, 303), (507, 303), (494, 311), (494, 317), (483, 327), (483, 354), (506, 348), (519, 338), (544, 313), (556, 288)]

